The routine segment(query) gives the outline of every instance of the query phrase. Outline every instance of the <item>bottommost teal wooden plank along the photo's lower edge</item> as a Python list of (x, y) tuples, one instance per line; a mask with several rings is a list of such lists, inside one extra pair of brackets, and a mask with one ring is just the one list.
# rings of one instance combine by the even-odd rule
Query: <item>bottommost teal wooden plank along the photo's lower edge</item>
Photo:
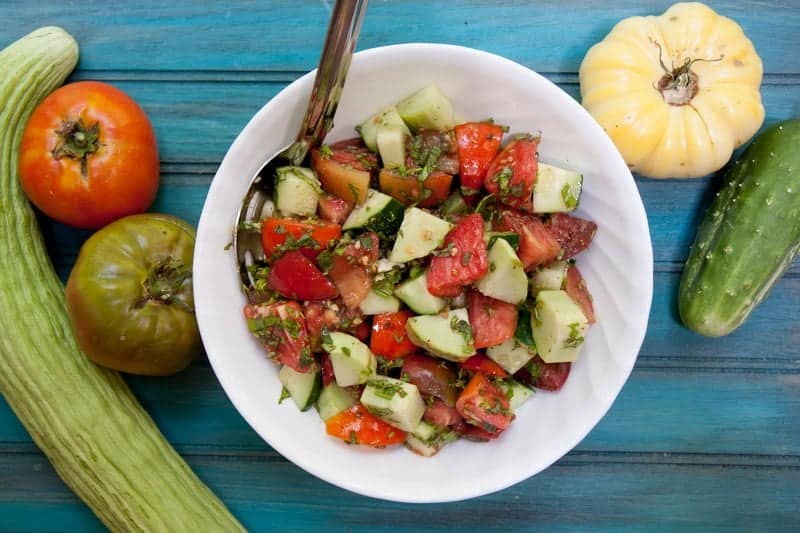
[[(800, 526), (796, 465), (702, 465), (671, 458), (641, 464), (624, 456), (598, 464), (578, 457), (475, 500), (408, 505), (345, 492), (274, 454), (190, 455), (187, 461), (253, 531), (419, 531), (423, 523), (426, 531), (777, 531)], [(0, 455), (0, 470), (11, 481), (0, 485), (4, 531), (47, 530), (43, 516), (62, 531), (102, 530), (38, 455)]]

